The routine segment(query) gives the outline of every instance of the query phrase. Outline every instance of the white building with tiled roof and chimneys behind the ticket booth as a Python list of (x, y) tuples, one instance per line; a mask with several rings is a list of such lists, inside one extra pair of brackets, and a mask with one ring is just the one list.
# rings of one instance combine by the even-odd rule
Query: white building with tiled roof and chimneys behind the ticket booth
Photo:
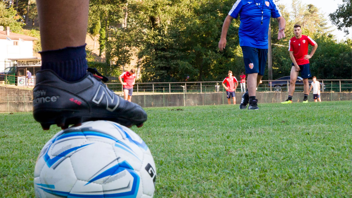
[(0, 26), (0, 73), (4, 72), (6, 62), (11, 58), (32, 59), (35, 37), (10, 31), (10, 27)]

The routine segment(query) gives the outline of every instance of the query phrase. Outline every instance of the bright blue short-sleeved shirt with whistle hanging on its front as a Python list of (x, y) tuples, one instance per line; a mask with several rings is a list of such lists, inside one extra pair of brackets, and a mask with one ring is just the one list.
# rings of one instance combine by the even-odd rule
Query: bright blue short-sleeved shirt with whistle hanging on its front
[[(262, 21), (263, 10), (263, 25)], [(268, 49), (270, 17), (281, 17), (281, 12), (272, 0), (237, 0), (228, 13), (233, 18), (240, 16), (238, 36), (240, 46)]]

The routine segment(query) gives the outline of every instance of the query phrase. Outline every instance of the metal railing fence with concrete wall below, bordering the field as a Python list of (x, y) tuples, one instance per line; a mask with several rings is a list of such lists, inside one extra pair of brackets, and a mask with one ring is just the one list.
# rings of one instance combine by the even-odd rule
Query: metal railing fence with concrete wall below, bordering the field
[[(322, 101), (352, 100), (352, 80), (319, 81), (321, 83)], [(116, 94), (123, 97), (122, 85), (118, 80), (112, 79), (106, 85), (115, 91)], [(27, 88), (26, 86), (6, 84), (0, 80), (0, 111), (31, 111), (31, 87), (33, 86)], [(288, 87), (289, 81), (263, 80), (258, 86), (256, 96), (259, 103), (279, 103), (287, 99)], [(240, 85), (238, 85), (235, 93), (236, 103), (240, 104), (243, 94), (241, 93)], [(312, 92), (310, 92), (308, 99), (313, 101)], [(297, 81), (293, 101), (299, 102), (302, 100), (303, 82)], [(132, 102), (142, 107), (228, 104), (226, 90), (221, 85), (221, 81), (136, 83), (133, 87)]]

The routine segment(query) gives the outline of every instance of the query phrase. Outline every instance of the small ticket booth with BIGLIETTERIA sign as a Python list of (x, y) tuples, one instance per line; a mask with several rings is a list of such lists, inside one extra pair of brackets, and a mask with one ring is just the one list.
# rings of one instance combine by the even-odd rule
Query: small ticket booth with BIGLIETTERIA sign
[[(42, 66), (42, 61), (38, 57), (33, 58), (9, 58), (16, 67), (17, 86), (34, 86), (36, 73)], [(27, 70), (31, 72), (32, 77), (26, 78)]]

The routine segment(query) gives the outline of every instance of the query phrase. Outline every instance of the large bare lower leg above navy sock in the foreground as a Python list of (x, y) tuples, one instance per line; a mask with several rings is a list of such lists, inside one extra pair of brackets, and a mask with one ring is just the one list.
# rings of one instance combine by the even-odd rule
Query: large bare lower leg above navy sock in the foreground
[(42, 50), (86, 43), (89, 0), (37, 0)]

